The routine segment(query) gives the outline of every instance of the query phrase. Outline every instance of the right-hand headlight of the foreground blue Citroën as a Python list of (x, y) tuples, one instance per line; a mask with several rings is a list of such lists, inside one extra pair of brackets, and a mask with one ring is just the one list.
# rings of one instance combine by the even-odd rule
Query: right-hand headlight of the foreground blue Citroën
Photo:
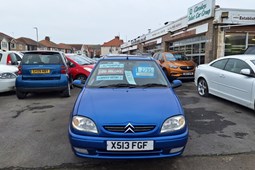
[(176, 130), (180, 130), (184, 126), (185, 126), (184, 116), (174, 116), (174, 117), (167, 119), (163, 123), (160, 133), (173, 132)]

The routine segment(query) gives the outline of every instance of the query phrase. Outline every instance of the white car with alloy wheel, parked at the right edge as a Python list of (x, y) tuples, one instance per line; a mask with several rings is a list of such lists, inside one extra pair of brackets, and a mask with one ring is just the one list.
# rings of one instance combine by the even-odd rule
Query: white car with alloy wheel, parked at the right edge
[(213, 94), (255, 109), (255, 55), (227, 56), (199, 65), (195, 85), (200, 96)]

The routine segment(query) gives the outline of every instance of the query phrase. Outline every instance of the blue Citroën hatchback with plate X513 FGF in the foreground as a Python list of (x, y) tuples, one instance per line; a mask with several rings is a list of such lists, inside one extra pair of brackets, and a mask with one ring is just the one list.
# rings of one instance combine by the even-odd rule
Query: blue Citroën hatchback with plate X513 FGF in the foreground
[(110, 56), (98, 61), (70, 116), (75, 155), (139, 159), (181, 155), (188, 140), (184, 110), (156, 61), (144, 56)]

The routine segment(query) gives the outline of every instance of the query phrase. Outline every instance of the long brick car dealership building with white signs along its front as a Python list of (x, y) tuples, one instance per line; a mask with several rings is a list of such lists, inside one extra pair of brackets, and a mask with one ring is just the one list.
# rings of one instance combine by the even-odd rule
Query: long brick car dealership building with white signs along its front
[(220, 8), (215, 0), (204, 0), (187, 11), (185, 17), (125, 42), (121, 52), (179, 51), (203, 64), (255, 45), (255, 10)]

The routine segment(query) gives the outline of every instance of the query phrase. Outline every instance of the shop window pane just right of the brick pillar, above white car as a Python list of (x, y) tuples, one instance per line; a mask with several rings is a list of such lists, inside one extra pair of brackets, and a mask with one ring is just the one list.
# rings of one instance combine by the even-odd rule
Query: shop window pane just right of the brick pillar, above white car
[(246, 44), (245, 33), (227, 33), (225, 36), (225, 56), (243, 54)]

